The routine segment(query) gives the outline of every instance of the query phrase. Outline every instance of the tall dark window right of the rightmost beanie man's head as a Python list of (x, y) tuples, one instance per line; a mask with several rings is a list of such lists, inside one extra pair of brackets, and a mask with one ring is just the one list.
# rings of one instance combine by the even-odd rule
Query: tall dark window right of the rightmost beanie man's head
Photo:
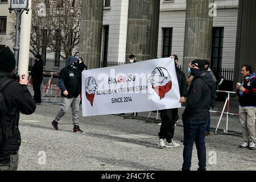
[(212, 68), (221, 68), (224, 27), (213, 27), (212, 37)]

